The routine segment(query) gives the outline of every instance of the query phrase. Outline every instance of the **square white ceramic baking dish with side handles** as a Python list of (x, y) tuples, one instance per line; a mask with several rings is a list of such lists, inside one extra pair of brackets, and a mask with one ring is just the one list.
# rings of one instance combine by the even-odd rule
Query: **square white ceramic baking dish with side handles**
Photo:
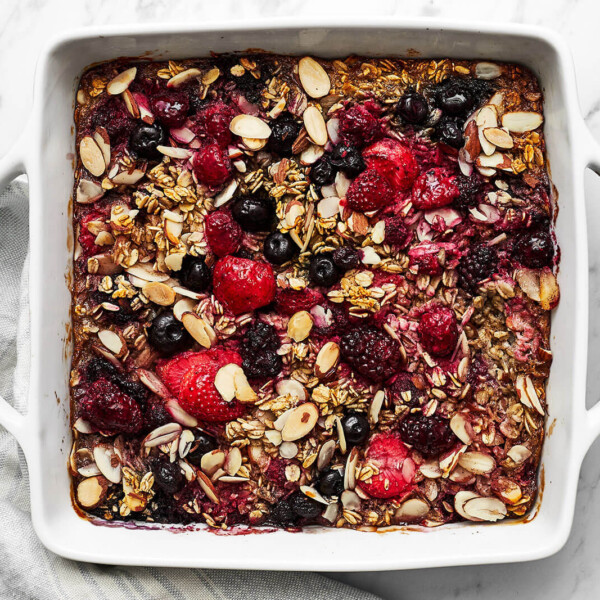
[[(205, 530), (100, 527), (71, 506), (67, 456), (70, 364), (67, 286), (72, 234), (73, 101), (82, 69), (118, 56), (183, 58), (262, 48), (326, 57), (350, 53), (482, 58), (521, 62), (539, 76), (553, 180), (560, 192), (560, 306), (552, 325), (548, 386), (551, 433), (544, 446), (543, 493), (522, 522), (460, 524), (386, 533), (310, 529), (217, 536)], [(383, 570), (530, 560), (565, 543), (579, 469), (600, 433), (600, 406), (585, 408), (588, 262), (583, 175), (600, 169), (600, 148), (579, 113), (571, 58), (554, 34), (516, 26), (456, 26), (433, 21), (279, 21), (254, 25), (92, 29), (64, 36), (42, 55), (31, 122), (0, 161), (0, 186), (26, 172), (31, 215), (31, 380), (29, 411), (0, 402), (0, 423), (18, 439), (29, 466), (35, 530), (54, 552), (113, 564), (289, 570)], [(71, 243), (68, 243), (71, 240)], [(58, 401), (57, 401), (58, 400)]]

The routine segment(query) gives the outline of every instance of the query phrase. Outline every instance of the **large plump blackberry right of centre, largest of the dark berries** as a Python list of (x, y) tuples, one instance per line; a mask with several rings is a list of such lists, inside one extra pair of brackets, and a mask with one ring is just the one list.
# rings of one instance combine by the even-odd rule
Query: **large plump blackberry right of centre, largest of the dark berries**
[(348, 364), (373, 381), (389, 379), (401, 365), (398, 342), (372, 326), (344, 334), (340, 350)]

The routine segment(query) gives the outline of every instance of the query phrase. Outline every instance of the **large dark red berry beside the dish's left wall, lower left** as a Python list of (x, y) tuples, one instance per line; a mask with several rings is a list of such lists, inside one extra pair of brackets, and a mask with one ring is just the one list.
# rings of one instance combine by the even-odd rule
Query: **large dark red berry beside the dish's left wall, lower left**
[(83, 418), (103, 433), (137, 433), (142, 428), (140, 407), (108, 379), (96, 380), (80, 406)]

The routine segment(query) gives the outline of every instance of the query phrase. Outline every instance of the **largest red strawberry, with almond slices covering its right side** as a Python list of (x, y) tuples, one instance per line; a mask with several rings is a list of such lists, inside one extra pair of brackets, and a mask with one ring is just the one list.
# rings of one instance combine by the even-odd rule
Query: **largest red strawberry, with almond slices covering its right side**
[(246, 411), (244, 405), (237, 400), (226, 402), (215, 387), (217, 372), (228, 364), (241, 367), (242, 357), (237, 352), (220, 348), (198, 353), (194, 365), (181, 381), (181, 408), (198, 419), (210, 422), (231, 421), (243, 415)]

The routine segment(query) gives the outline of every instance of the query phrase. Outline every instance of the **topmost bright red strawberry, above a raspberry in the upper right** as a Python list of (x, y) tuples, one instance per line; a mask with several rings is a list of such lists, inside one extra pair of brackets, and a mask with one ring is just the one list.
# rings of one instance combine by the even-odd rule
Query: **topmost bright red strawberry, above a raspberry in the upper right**
[(369, 169), (373, 169), (396, 190), (409, 190), (419, 174), (413, 153), (400, 142), (385, 138), (363, 151)]

